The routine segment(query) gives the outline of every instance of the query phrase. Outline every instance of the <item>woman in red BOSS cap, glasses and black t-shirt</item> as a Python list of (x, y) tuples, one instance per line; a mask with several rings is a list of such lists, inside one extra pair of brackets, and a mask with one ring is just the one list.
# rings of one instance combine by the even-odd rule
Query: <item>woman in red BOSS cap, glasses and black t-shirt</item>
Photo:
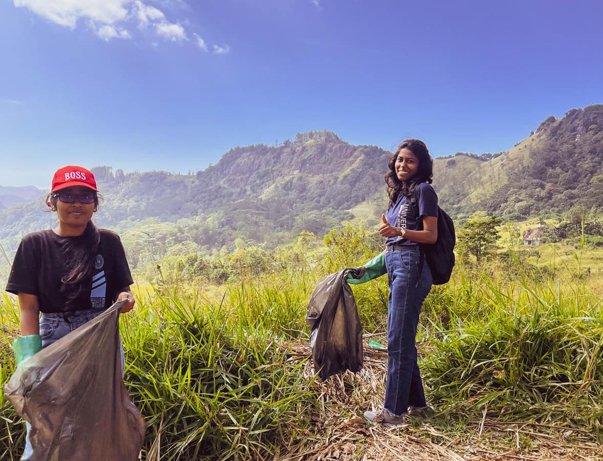
[[(134, 307), (124, 247), (117, 234), (92, 223), (97, 192), (86, 168), (57, 170), (46, 205), (57, 213), (58, 225), (26, 235), (14, 256), (6, 290), (19, 296), (21, 334), (40, 335), (42, 348), (115, 301), (127, 301), (122, 312)], [(28, 442), (22, 460), (30, 459)]]

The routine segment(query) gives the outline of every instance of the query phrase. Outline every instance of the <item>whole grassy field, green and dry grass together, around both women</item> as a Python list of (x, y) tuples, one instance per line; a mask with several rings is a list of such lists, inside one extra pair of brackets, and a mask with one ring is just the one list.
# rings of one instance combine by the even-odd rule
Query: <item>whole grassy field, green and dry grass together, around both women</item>
[[(459, 262), (429, 294), (417, 337), (435, 415), (384, 428), (361, 418), (384, 395), (387, 352), (368, 347), (385, 340), (384, 278), (353, 287), (364, 369), (323, 382), (309, 360), (309, 296), (327, 273), (372, 256), (370, 238), (356, 237), (209, 290), (141, 285), (121, 335), (148, 424), (142, 459), (601, 459), (598, 253), (518, 249), (511, 269)], [(534, 270), (544, 265), (555, 270)], [(4, 383), (18, 325), (9, 297), (0, 324)], [(3, 396), (0, 417), (0, 459), (18, 459), (23, 426)]]

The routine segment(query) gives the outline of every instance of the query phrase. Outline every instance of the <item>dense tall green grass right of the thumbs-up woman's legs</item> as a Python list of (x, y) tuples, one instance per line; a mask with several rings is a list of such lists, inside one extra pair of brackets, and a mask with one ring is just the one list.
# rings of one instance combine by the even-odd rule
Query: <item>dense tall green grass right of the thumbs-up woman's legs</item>
[(586, 287), (464, 278), (435, 290), (426, 310), (422, 367), (435, 402), (601, 437), (603, 300)]

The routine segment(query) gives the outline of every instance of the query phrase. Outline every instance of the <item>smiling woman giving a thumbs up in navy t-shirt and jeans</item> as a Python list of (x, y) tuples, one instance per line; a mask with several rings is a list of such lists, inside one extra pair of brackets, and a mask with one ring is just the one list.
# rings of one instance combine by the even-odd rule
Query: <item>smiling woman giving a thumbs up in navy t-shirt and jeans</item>
[[(406, 139), (388, 162), (390, 199), (379, 234), (386, 237), (385, 259), (390, 298), (387, 314), (387, 382), (384, 408), (367, 411), (371, 422), (403, 424), (404, 416), (431, 412), (417, 364), (418, 317), (431, 290), (432, 273), (421, 244), (438, 240), (438, 197), (432, 182), (433, 161), (423, 141)], [(418, 208), (418, 210), (417, 210)]]

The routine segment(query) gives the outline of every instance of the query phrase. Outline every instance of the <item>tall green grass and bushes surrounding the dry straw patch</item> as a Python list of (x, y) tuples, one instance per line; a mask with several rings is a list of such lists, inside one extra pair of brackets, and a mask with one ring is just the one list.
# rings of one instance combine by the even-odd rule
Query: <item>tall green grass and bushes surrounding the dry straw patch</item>
[[(145, 453), (160, 447), (162, 459), (258, 459), (320, 432), (312, 422), (324, 411), (315, 378), (289, 359), (286, 345), (307, 341), (304, 318), (316, 282), (368, 261), (379, 239), (374, 229), (353, 224), (323, 241), (303, 234), (270, 254), (269, 264), (241, 262), (213, 290), (183, 275), (185, 267), (165, 266), (163, 283), (140, 290), (136, 311), (121, 322), (125, 381), (148, 424)], [(602, 439), (603, 301), (589, 279), (561, 276), (561, 269), (542, 271), (509, 249), (479, 264), (459, 258), (452, 281), (434, 287), (418, 343), (428, 399), (439, 415), (430, 424), (438, 431), (458, 431), (487, 415), (560, 431), (578, 427)], [(365, 332), (384, 332), (387, 280), (353, 290)], [(13, 372), (8, 342), (18, 325), (8, 297), (0, 323), (4, 383)], [(0, 457), (17, 457), (24, 431), (3, 397), (0, 415)]]

